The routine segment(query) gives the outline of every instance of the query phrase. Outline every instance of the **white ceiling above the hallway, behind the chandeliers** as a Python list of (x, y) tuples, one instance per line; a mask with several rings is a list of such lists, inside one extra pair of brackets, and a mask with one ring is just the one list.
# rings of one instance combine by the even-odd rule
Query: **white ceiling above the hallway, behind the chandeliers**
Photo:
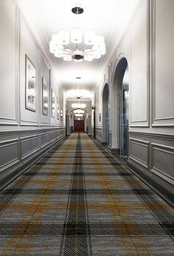
[[(108, 54), (118, 43), (118, 37), (114, 35), (119, 36), (125, 30), (138, 2), (139, 0), (18, 0), (27, 21), (32, 23), (33, 18), (37, 19), (48, 42), (53, 33), (63, 29), (71, 30), (73, 27), (80, 27), (83, 31), (94, 30), (97, 35), (104, 36), (106, 54), (100, 59), (75, 62), (56, 58), (57, 77), (64, 90), (76, 89), (77, 76), (81, 77), (81, 89), (94, 88), (100, 80), (101, 70), (105, 68)], [(83, 14), (77, 16), (72, 13), (75, 3), (83, 5)]]

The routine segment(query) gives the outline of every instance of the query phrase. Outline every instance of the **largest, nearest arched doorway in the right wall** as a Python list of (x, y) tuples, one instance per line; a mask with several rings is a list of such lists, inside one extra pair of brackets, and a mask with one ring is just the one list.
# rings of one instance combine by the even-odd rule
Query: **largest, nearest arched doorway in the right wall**
[[(114, 90), (117, 110), (117, 144), (119, 155), (122, 158), (128, 158), (128, 127), (129, 127), (129, 79), (128, 79), (128, 61), (121, 58), (116, 65), (114, 73)], [(114, 97), (113, 95), (113, 97)], [(116, 100), (117, 99), (117, 100)]]

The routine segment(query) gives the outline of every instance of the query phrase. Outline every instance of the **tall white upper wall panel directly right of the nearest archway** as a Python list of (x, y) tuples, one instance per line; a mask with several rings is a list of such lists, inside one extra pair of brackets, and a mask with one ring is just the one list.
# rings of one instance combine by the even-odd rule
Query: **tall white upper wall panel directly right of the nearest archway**
[(130, 122), (147, 123), (147, 2), (130, 29)]

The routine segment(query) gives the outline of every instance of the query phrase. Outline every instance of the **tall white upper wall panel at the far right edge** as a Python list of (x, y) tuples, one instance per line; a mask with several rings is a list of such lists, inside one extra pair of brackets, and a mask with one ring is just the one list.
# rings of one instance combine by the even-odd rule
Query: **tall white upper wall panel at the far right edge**
[(172, 118), (174, 122), (174, 1), (156, 0), (155, 27), (155, 118)]

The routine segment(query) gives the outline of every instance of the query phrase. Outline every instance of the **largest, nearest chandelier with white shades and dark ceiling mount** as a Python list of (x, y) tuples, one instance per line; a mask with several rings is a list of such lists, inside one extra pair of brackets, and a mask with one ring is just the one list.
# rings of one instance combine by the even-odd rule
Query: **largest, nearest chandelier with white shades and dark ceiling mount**
[[(79, 15), (83, 13), (83, 8), (73, 7), (72, 13)], [(82, 42), (84, 47), (80, 48), (79, 44)], [(92, 61), (105, 54), (105, 41), (103, 36), (95, 35), (93, 30), (84, 32), (83, 41), (82, 30), (75, 27), (70, 32), (60, 30), (59, 33), (53, 34), (52, 41), (49, 41), (49, 51), (54, 53), (55, 57), (63, 58), (64, 61)]]

